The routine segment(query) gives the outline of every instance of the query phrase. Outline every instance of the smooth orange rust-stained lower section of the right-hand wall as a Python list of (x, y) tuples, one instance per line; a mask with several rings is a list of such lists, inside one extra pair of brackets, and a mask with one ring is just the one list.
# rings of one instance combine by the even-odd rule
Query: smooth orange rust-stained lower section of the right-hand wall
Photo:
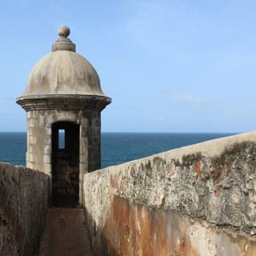
[(112, 206), (98, 255), (256, 255), (254, 239), (239, 232), (117, 195)]

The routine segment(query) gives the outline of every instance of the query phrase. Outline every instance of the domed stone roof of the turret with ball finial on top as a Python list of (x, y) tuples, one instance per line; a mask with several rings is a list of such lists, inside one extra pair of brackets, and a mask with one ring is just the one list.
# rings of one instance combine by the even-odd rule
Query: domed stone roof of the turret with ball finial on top
[(75, 45), (67, 38), (70, 29), (61, 26), (60, 38), (53, 44), (52, 52), (43, 57), (31, 70), (22, 98), (54, 97), (60, 95), (103, 96), (100, 80), (94, 67), (75, 52)]

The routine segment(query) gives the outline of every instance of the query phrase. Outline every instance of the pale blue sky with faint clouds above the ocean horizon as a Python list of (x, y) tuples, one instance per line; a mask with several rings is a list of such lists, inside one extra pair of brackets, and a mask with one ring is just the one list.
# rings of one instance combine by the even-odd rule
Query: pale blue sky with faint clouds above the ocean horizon
[(255, 130), (255, 14), (253, 0), (3, 1), (0, 131), (26, 130), (15, 98), (61, 25), (113, 100), (102, 131)]

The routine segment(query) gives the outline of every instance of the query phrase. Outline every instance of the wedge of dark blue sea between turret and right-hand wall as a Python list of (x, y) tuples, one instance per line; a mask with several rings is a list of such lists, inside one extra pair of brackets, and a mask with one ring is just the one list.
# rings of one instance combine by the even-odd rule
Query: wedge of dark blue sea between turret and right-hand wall
[(103, 133), (102, 167), (231, 134)]

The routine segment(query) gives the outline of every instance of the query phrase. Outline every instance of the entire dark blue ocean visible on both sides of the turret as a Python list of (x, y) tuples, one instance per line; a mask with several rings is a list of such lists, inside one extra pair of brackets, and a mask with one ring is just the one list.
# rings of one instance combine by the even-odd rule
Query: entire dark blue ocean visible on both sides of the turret
[[(102, 168), (188, 146), (224, 133), (102, 133)], [(26, 132), (0, 132), (0, 162), (26, 165)]]

